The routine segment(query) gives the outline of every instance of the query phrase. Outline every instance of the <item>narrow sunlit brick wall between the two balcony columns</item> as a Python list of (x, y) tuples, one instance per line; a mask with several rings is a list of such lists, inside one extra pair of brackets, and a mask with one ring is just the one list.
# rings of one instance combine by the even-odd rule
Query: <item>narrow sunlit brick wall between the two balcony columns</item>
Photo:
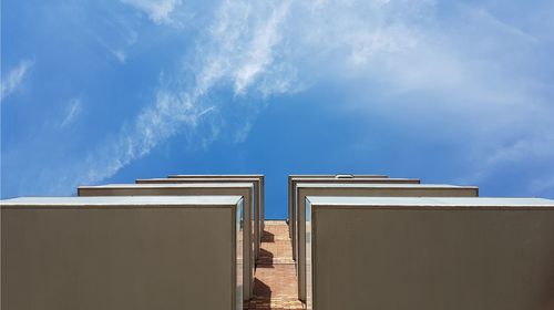
[(254, 297), (244, 309), (306, 309), (298, 300), (298, 280), (285, 220), (265, 221)]

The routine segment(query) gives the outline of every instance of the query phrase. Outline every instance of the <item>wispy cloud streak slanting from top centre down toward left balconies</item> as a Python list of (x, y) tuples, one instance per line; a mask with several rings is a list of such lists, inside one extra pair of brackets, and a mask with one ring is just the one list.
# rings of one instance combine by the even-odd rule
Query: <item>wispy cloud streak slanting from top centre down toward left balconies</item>
[[(294, 74), (288, 78), (267, 74), (278, 71), (286, 75), (280, 64), (275, 66), (275, 46), (280, 42), (279, 29), (289, 2), (254, 7), (248, 1), (223, 1), (208, 33), (196, 46), (197, 54), (185, 60), (188, 65), (184, 70), (193, 69), (194, 79), (178, 79), (178, 74), (185, 73), (182, 71), (174, 79), (162, 74), (154, 104), (144, 108), (116, 138), (93, 152), (83, 163), (85, 173), (73, 180), (73, 185), (101, 182), (175, 134), (197, 134), (204, 145), (213, 142), (220, 133), (220, 124), (214, 120), (220, 120), (215, 115), (222, 108), (209, 100), (214, 87), (230, 83), (236, 95), (254, 87), (266, 96), (291, 89), (285, 81)], [(165, 11), (168, 14), (170, 10)], [(166, 83), (166, 80), (174, 81)], [(208, 123), (208, 131), (196, 133), (203, 122)], [(236, 141), (243, 141), (248, 134), (250, 124), (244, 124), (236, 130)]]

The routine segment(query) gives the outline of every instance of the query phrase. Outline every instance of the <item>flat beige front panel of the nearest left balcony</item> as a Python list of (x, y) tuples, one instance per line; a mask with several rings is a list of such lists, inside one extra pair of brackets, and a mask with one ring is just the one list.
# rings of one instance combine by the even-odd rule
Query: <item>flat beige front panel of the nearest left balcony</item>
[(233, 309), (235, 211), (2, 205), (2, 309)]

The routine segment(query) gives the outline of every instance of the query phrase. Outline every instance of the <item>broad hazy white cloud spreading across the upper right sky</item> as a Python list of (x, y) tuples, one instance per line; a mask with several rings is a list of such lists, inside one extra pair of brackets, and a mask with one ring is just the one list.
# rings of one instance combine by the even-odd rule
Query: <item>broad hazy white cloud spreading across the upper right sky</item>
[(529, 24), (509, 23), (481, 4), (455, 4), (451, 19), (431, 1), (350, 4), (319, 1), (302, 14), (304, 27), (284, 34), (300, 38), (294, 42), (300, 54), (326, 64), (308, 59), (301, 72), (359, 84), (337, 110), (357, 105), (357, 114), (448, 132), (466, 149), (459, 161), (471, 163), (468, 175), (479, 176), (472, 180), (531, 162), (554, 173), (554, 90), (534, 73), (548, 41)]

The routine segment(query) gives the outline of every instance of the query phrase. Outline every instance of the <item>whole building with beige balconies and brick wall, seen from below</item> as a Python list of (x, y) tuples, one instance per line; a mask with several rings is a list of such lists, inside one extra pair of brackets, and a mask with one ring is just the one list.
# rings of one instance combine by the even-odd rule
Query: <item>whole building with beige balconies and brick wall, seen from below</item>
[(554, 309), (553, 200), (291, 175), (288, 220), (264, 221), (264, 183), (170, 175), (1, 200), (1, 309)]

